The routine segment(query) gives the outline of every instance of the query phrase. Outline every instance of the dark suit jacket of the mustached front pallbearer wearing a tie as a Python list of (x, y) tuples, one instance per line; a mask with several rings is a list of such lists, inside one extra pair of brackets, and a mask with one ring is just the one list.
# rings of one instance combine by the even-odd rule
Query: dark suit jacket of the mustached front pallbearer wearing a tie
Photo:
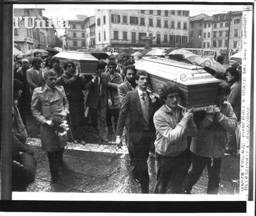
[[(147, 93), (149, 94), (149, 92)], [(153, 115), (159, 107), (158, 101), (152, 103), (151, 99), (149, 99), (149, 131), (154, 135), (154, 137), (156, 136), (156, 129), (154, 128)], [(127, 115), (130, 115), (130, 122), (125, 126)], [(141, 140), (143, 135), (143, 114), (137, 89), (132, 92), (127, 92), (122, 102), (117, 123), (116, 136), (122, 136), (124, 126), (129, 129), (129, 138), (131, 142), (139, 142)]]

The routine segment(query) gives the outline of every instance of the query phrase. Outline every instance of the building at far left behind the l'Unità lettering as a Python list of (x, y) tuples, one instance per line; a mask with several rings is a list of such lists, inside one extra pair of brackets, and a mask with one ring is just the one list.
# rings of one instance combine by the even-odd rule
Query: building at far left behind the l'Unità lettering
[[(36, 20), (43, 20), (45, 22), (42, 11), (43, 9), (14, 9), (14, 18), (36, 17)], [(28, 25), (32, 27), (32, 24), (32, 20), (28, 19)], [(19, 28), (14, 28), (14, 43), (16, 43), (23, 52), (33, 48), (45, 49), (48, 47), (48, 35), (46, 29), (37, 28), (36, 24), (33, 28), (29, 29), (25, 27), (24, 18), (18, 21), (18, 26)]]

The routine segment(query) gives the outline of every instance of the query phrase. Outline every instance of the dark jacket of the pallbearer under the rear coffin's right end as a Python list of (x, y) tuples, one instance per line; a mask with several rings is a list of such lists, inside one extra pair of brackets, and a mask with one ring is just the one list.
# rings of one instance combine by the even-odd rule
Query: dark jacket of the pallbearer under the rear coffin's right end
[(109, 89), (106, 87), (106, 82), (110, 82), (109, 75), (102, 73), (100, 82), (102, 83), (102, 95), (99, 95), (98, 78), (96, 81), (92, 81), (92, 76), (89, 77), (89, 82), (85, 84), (85, 89), (89, 89), (88, 97), (86, 100), (86, 106), (97, 109), (98, 103), (100, 102), (100, 108), (107, 107), (107, 100), (110, 99)]

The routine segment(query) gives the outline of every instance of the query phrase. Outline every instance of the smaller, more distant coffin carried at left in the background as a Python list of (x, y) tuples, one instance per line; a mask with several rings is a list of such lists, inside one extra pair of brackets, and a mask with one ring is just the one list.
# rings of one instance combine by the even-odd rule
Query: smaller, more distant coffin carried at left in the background
[(62, 68), (65, 60), (71, 59), (80, 67), (81, 74), (96, 74), (99, 60), (93, 57), (90, 53), (62, 51), (57, 53), (55, 57), (59, 58), (60, 67)]

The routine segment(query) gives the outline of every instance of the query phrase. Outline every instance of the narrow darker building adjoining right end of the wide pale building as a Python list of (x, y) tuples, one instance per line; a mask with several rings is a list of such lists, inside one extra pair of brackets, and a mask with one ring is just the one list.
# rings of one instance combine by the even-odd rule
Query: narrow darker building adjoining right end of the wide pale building
[[(203, 39), (207, 39), (208, 27), (205, 28), (206, 38), (203, 38), (203, 30), (204, 30), (204, 19), (209, 17), (204, 13), (200, 13), (199, 15), (190, 17), (190, 39), (189, 46), (190, 48), (202, 48), (203, 47)], [(207, 46), (208, 40), (204, 41)]]

